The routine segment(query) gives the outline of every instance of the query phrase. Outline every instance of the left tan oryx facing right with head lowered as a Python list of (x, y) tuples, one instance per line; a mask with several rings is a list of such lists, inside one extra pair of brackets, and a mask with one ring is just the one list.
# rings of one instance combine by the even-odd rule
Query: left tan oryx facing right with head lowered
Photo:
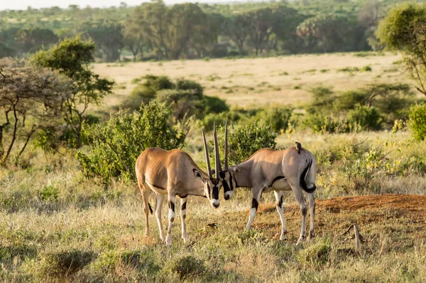
[[(148, 203), (150, 191), (153, 190), (157, 197), (155, 217), (157, 218), (161, 240), (165, 240), (166, 245), (171, 245), (170, 233), (173, 221), (175, 220), (175, 196), (180, 197), (180, 218), (182, 219), (182, 239), (184, 242), (187, 240), (185, 223), (187, 197), (207, 197), (214, 208), (219, 207), (219, 190), (222, 187), (222, 181), (219, 178), (213, 178), (214, 170), (210, 166), (204, 131), (202, 131), (202, 137), (204, 139), (207, 173), (202, 171), (192, 158), (180, 149), (165, 151), (158, 147), (151, 147), (144, 150), (136, 160), (136, 178), (138, 179), (138, 186), (141, 190), (145, 206), (145, 233), (146, 235), (149, 234), (148, 215), (150, 211), (153, 213), (151, 205)], [(217, 140), (214, 142), (214, 150), (216, 171), (218, 172), (220, 158)], [(167, 237), (164, 239), (163, 224), (161, 223), (161, 206), (163, 205), (165, 195), (168, 196), (169, 223)]]

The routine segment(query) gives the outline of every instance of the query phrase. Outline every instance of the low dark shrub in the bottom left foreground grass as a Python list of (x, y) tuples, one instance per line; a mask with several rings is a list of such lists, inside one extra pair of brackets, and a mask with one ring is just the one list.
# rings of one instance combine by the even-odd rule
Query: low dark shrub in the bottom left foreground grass
[(47, 252), (41, 255), (38, 273), (41, 277), (68, 277), (92, 262), (94, 257), (94, 252), (83, 250)]

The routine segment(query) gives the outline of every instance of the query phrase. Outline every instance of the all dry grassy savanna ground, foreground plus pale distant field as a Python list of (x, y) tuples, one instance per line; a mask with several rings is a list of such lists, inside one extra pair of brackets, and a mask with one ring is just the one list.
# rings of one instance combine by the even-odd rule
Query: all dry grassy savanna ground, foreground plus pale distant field
[[(368, 53), (97, 64), (95, 73), (114, 78), (118, 86), (97, 111), (109, 112), (119, 105), (132, 88), (131, 80), (147, 74), (197, 80), (207, 95), (218, 95), (230, 105), (297, 105), (309, 99), (309, 87), (319, 84), (349, 90), (371, 82), (410, 82), (398, 68), (400, 59)], [(367, 65), (371, 71), (361, 71)], [(198, 131), (191, 130), (184, 150), (203, 164)], [(263, 195), (253, 229), (244, 231), (251, 192), (239, 188), (231, 201), (221, 195), (217, 210), (203, 198), (190, 198), (189, 243), (183, 245), (180, 239), (178, 217), (173, 246), (165, 247), (153, 215), (151, 236), (143, 235), (143, 204), (136, 183), (116, 181), (106, 186), (87, 180), (73, 152), (61, 156), (28, 151), (28, 163), (0, 171), (1, 278), (7, 282), (422, 282), (426, 178), (421, 158), (426, 143), (413, 144), (409, 138), (410, 132), (280, 134), (278, 146), (302, 142), (320, 164), (316, 237), (297, 247), (301, 213), (291, 192), (285, 193), (289, 232), (285, 242), (278, 240), (280, 222), (273, 193)], [(367, 157), (357, 167), (354, 156), (359, 152)], [(409, 160), (418, 160), (419, 165), (404, 167)], [(176, 207), (179, 215), (180, 205)], [(166, 218), (164, 207), (163, 225)], [(353, 230), (342, 235), (354, 223), (362, 236), (359, 252), (351, 238)]]

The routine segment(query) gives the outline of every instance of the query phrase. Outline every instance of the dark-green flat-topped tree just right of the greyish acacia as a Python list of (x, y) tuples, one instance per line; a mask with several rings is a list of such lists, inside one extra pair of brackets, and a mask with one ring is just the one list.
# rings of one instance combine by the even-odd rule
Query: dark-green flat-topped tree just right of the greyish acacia
[(80, 36), (67, 38), (52, 49), (40, 51), (33, 57), (33, 62), (41, 67), (58, 70), (70, 78), (74, 90), (65, 100), (64, 120), (66, 132), (71, 132), (67, 139), (68, 146), (80, 147), (82, 124), (87, 119), (85, 114), (89, 105), (99, 105), (105, 95), (111, 93), (114, 82), (99, 78), (89, 69), (94, 61), (95, 46), (92, 41), (84, 41)]

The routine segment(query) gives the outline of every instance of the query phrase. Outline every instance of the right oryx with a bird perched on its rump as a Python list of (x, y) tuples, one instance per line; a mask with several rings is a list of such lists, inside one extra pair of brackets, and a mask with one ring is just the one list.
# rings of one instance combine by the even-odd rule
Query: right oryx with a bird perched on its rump
[(270, 191), (274, 192), (277, 211), (282, 225), (280, 240), (285, 240), (285, 235), (287, 234), (283, 214), (283, 191), (293, 191), (302, 211), (302, 229), (296, 245), (305, 240), (307, 204), (302, 190), (305, 191), (310, 203), (309, 236), (314, 236), (315, 157), (310, 151), (302, 148), (299, 143), (297, 143), (296, 147), (290, 147), (285, 150), (259, 149), (246, 161), (236, 166), (228, 166), (228, 129), (225, 124), (224, 170), (219, 171), (219, 178), (224, 187), (224, 198), (226, 200), (232, 197), (234, 188), (252, 188), (253, 199), (246, 230), (251, 228), (261, 194)]

